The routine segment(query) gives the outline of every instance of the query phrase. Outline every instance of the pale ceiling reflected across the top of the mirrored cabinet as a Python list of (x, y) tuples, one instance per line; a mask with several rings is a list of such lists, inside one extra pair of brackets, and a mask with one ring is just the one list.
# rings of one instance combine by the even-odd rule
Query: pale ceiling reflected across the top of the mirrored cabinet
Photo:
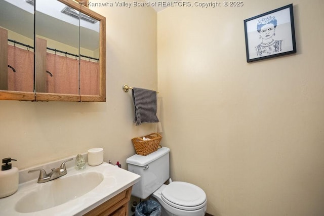
[[(78, 19), (62, 14), (61, 10), (64, 7), (65, 5), (56, 0), (37, 2), (36, 34), (71, 47), (79, 47), (80, 39), (83, 48), (98, 49), (99, 22), (95, 24), (83, 20), (79, 22)], [(29, 38), (34, 37), (33, 13), (33, 6), (27, 4), (25, 0), (0, 0), (0, 26)], [(79, 38), (79, 31), (85, 36)]]

